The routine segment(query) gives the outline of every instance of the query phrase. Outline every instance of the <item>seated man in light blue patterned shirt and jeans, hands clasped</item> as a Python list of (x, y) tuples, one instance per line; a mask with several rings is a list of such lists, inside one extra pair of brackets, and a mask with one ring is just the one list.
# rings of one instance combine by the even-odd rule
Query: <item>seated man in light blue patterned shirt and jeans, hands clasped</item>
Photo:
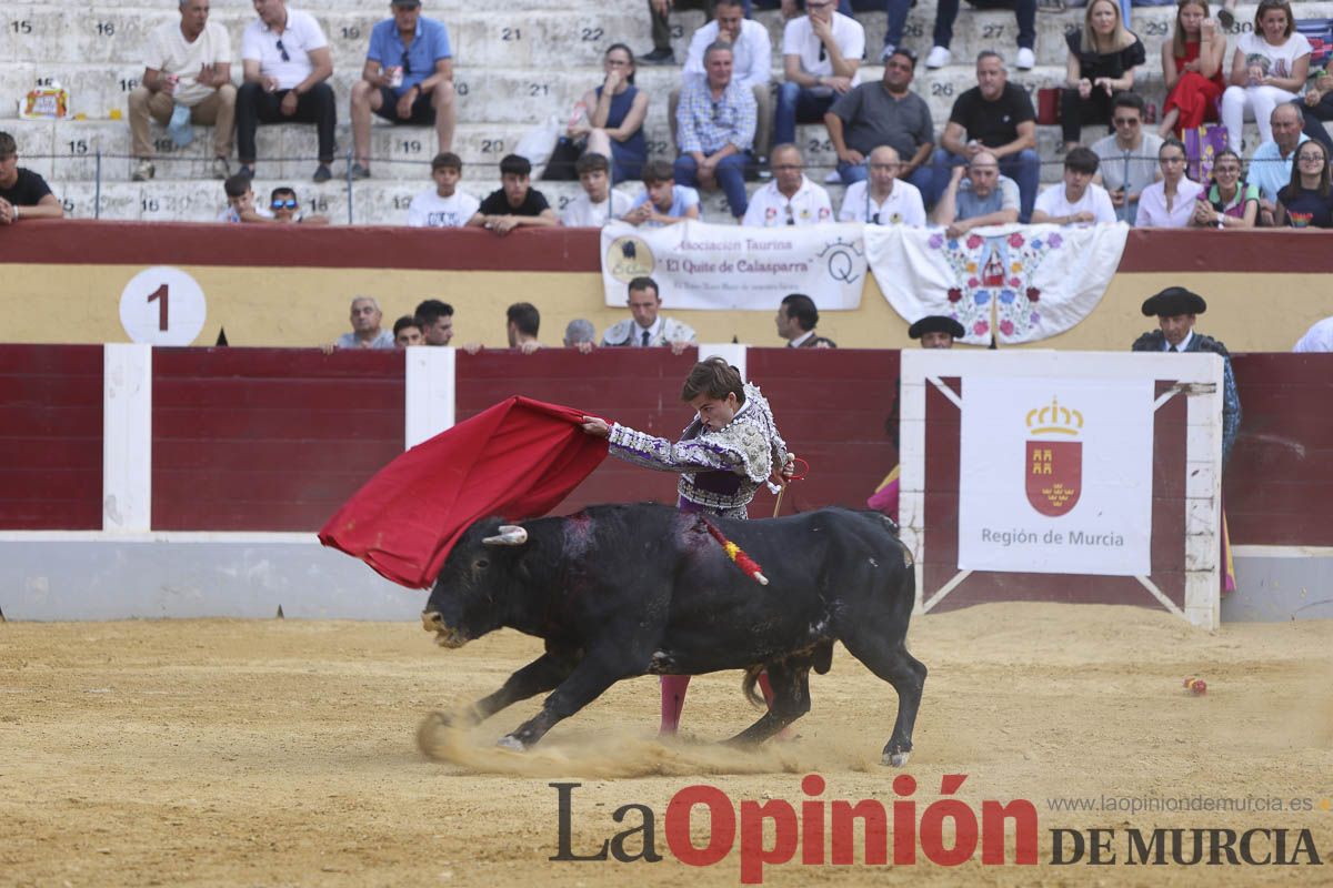
[(745, 165), (754, 146), (754, 95), (732, 77), (732, 47), (714, 43), (704, 52), (704, 80), (681, 89), (676, 109), (676, 181), (704, 190), (721, 188), (737, 220), (745, 216)]

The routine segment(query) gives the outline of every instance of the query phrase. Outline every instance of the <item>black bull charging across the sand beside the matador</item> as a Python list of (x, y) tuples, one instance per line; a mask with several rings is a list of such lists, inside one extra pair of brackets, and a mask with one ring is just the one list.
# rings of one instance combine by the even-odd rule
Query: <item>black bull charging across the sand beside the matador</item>
[(460, 647), (511, 627), (545, 639), (547, 652), (452, 719), (475, 724), (553, 691), (500, 742), (521, 750), (621, 679), (764, 667), (772, 708), (733, 738), (760, 743), (809, 711), (809, 671), (826, 672), (842, 642), (897, 691), (882, 760), (906, 763), (926, 668), (905, 644), (914, 576), (893, 526), (844, 509), (708, 521), (758, 562), (768, 586), (732, 563), (700, 515), (669, 506), (469, 527), (431, 591), (425, 628)]

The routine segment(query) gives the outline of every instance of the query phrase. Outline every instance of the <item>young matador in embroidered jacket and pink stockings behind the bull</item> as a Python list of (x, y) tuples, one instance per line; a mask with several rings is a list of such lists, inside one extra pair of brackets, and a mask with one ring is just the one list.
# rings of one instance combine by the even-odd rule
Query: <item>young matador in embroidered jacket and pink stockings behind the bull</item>
[[(758, 386), (744, 382), (722, 358), (700, 361), (685, 377), (680, 399), (696, 413), (680, 441), (635, 431), (619, 422), (585, 417), (584, 431), (609, 438), (611, 455), (636, 466), (680, 473), (681, 511), (748, 518), (746, 506), (761, 486), (790, 479), (796, 457), (777, 431), (773, 411)], [(663, 675), (661, 732), (676, 734), (685, 706), (688, 675)], [(760, 678), (770, 698), (768, 676)]]

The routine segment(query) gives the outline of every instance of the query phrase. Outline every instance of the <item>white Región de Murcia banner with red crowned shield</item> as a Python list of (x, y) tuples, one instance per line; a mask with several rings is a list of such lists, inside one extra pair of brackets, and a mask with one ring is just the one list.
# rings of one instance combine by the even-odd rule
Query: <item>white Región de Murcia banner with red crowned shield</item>
[(962, 379), (958, 568), (1152, 572), (1152, 379)]

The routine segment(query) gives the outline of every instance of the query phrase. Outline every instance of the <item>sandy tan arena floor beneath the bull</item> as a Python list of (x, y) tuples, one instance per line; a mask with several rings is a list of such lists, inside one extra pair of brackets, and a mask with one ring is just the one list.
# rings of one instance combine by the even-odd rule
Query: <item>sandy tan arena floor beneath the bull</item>
[[(930, 667), (906, 772), (917, 812), (942, 774), (957, 793), (1032, 800), (1040, 864), (800, 865), (765, 884), (1333, 884), (1333, 623), (1200, 632), (1120, 607), (1004, 604), (918, 619)], [(753, 718), (738, 675), (696, 679), (694, 743), (652, 739), (655, 679), (621, 683), (527, 755), (493, 750), (536, 702), (425, 758), (424, 716), (487, 694), (540, 652), (512, 632), (443, 651), (417, 624), (295, 620), (0, 624), (0, 885), (672, 885), (736, 884), (738, 852), (708, 868), (669, 855), (678, 789), (733, 800), (897, 796), (878, 764), (892, 688), (838, 648), (812, 676), (800, 739), (738, 755), (701, 740)], [(1206, 696), (1181, 687), (1200, 675)], [(576, 780), (573, 849), (657, 815), (663, 863), (552, 863), (555, 780)], [(1309, 800), (1308, 811), (1057, 812), (1050, 800)], [(1132, 801), (1117, 803), (1132, 804)], [(1216, 804), (1216, 803), (1214, 803)], [(1258, 804), (1258, 803), (1252, 803)], [(1306, 804), (1304, 801), (1298, 803)], [(696, 825), (700, 817), (696, 816)], [(1130, 827), (1309, 829), (1322, 865), (1124, 865)], [(1117, 829), (1114, 865), (1052, 865), (1049, 831)], [(704, 833), (696, 831), (697, 844)], [(637, 849), (636, 843), (629, 848)], [(1262, 851), (1272, 845), (1261, 843)]]

